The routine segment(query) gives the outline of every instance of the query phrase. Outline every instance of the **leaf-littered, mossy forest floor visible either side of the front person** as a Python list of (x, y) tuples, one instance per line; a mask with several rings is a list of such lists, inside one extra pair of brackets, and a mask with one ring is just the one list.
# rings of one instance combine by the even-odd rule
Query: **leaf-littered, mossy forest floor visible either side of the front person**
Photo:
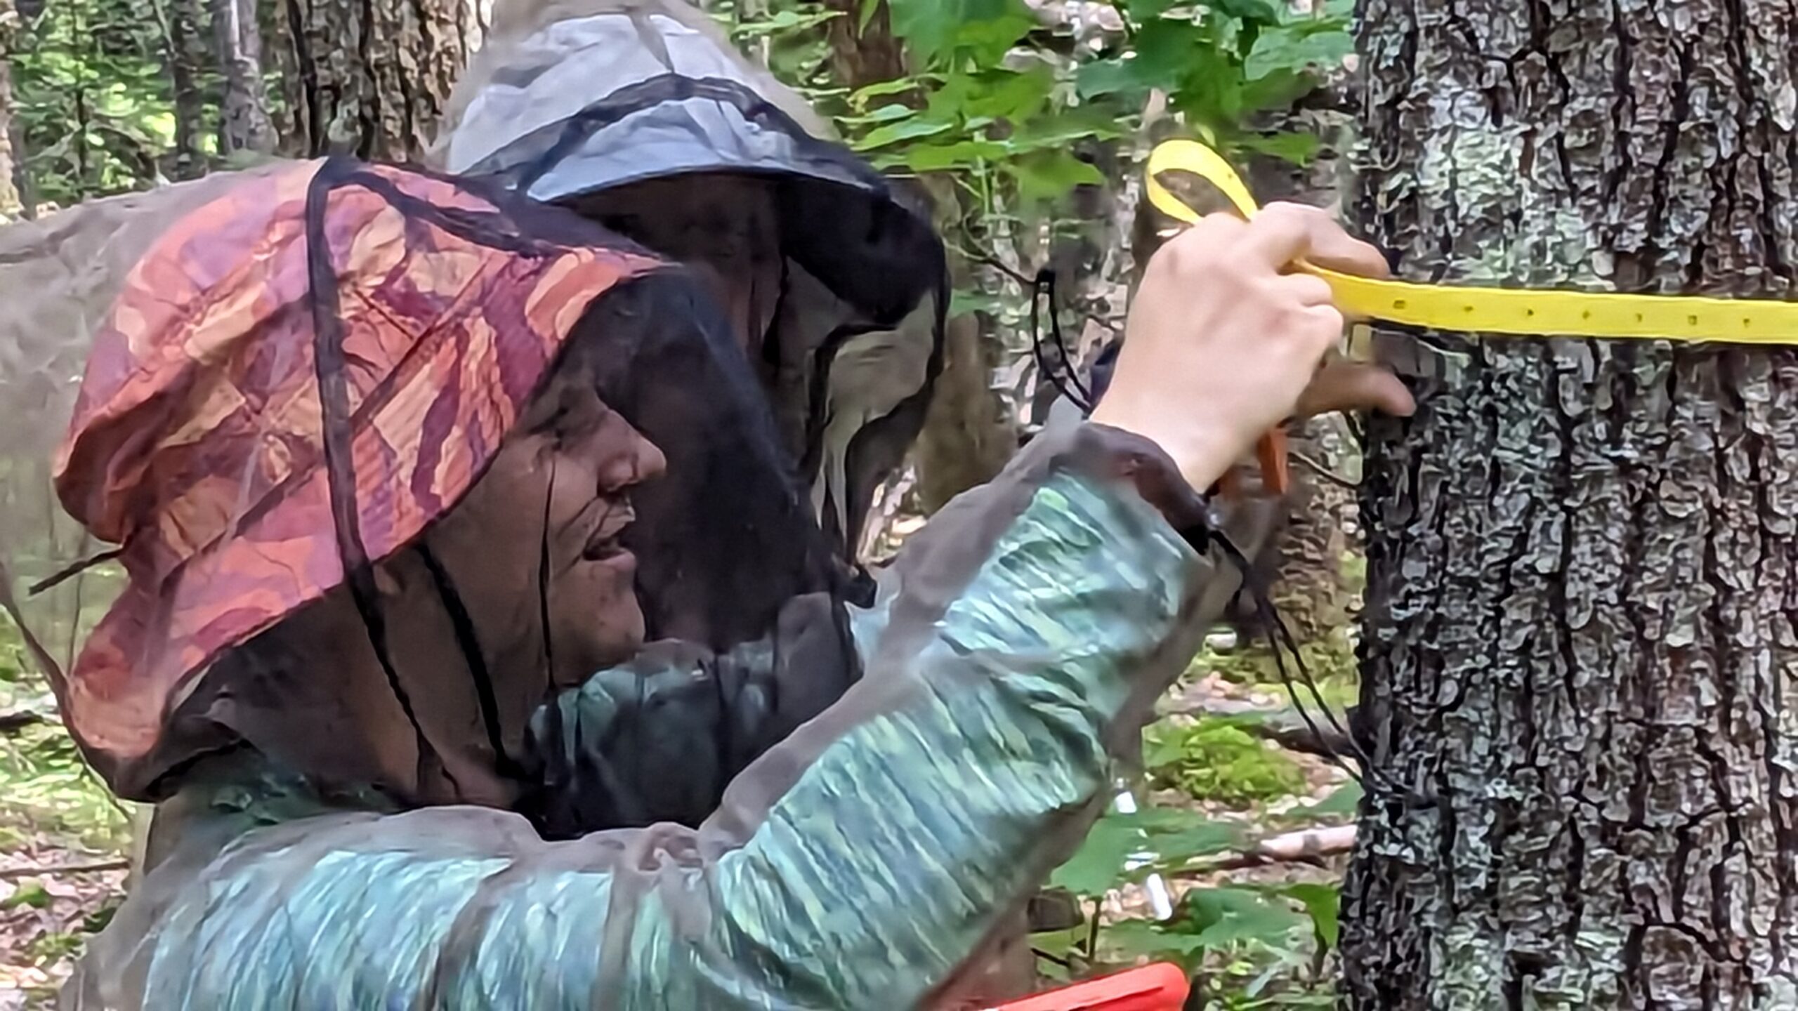
[[(1163, 700), (1147, 738), (1149, 781), (1136, 792), (1145, 811), (1197, 813), (1235, 826), (1244, 840), (1352, 824), (1352, 788), (1340, 768), (1241, 732), (1257, 712), (1291, 705), (1241, 655), (1206, 655)], [(0, 712), (45, 716), (0, 730), (0, 1011), (38, 1011), (54, 1006), (86, 941), (124, 898), (131, 817), (83, 765), (41, 687), (4, 662), (0, 682)], [(1350, 675), (1325, 673), (1322, 682), (1331, 702), (1352, 698)], [(1311, 817), (1295, 820), (1295, 810)], [(1099, 932), (1084, 928), (1088, 955), (1097, 946), (1108, 964), (1179, 957), (1208, 995), (1196, 1004), (1203, 1007), (1327, 1006), (1322, 948), (1334, 939), (1343, 856), (1221, 865), (1205, 871), (1201, 862), (1167, 881), (1178, 903), (1172, 919), (1185, 926), (1154, 923), (1144, 883), (1120, 880), (1099, 899)], [(1246, 907), (1244, 898), (1260, 905)]]

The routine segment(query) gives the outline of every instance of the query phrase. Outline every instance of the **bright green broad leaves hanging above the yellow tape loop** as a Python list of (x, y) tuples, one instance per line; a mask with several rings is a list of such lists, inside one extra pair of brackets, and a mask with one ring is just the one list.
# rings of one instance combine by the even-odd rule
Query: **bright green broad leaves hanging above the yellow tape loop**
[(1259, 131), (1313, 68), (1348, 52), (1345, 9), (1295, 14), (1269, 0), (1115, 5), (1117, 31), (1057, 38), (1023, 0), (890, 0), (919, 74), (850, 95), (859, 149), (886, 167), (998, 180), (1028, 200), (1100, 182), (1079, 144), (1135, 128), (1151, 92), (1224, 151), (1305, 158), (1304, 137)]

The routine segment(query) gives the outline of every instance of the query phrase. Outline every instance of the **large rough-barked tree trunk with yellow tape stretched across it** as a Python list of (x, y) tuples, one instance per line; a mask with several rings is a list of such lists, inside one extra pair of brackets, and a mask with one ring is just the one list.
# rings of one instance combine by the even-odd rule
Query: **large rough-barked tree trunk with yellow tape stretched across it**
[[(1363, 0), (1399, 273), (1791, 297), (1789, 2)], [(1798, 335), (1793, 335), (1798, 338)], [(1798, 360), (1440, 338), (1365, 468), (1345, 1004), (1798, 1007)]]

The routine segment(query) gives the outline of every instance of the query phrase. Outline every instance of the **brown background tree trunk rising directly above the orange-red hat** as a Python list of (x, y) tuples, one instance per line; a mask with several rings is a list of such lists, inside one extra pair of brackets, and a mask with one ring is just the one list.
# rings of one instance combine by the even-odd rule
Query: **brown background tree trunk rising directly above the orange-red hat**
[(466, 0), (277, 0), (293, 155), (417, 158), (467, 61)]

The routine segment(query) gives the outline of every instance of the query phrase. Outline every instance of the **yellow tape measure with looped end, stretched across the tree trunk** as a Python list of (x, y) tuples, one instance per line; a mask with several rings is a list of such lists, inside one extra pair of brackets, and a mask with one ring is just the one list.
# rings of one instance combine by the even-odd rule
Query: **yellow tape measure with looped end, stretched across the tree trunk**
[[(1156, 178), (1181, 171), (1205, 178), (1251, 218), (1259, 205), (1217, 151), (1194, 140), (1169, 140), (1149, 153), (1149, 201), (1169, 218), (1194, 223), (1199, 214)], [(1706, 299), (1697, 295), (1615, 295), (1451, 288), (1408, 281), (1370, 281), (1305, 264), (1331, 282), (1336, 308), (1395, 324), (1467, 333), (1636, 336), (1651, 340), (1724, 340), (1798, 344), (1798, 302)]]

